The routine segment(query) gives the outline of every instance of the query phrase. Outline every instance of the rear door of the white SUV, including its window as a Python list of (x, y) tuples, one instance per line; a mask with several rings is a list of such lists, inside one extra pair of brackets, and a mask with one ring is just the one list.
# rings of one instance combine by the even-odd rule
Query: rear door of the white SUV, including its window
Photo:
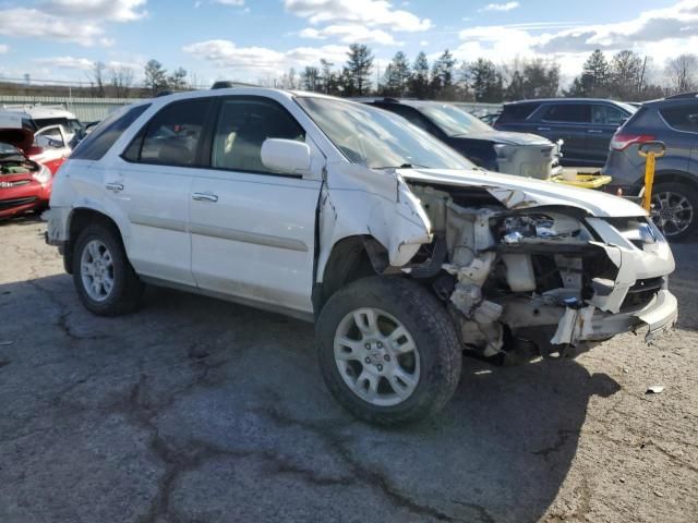
[(201, 98), (169, 104), (105, 172), (107, 193), (128, 218), (125, 247), (140, 275), (195, 285), (188, 223), (209, 107)]

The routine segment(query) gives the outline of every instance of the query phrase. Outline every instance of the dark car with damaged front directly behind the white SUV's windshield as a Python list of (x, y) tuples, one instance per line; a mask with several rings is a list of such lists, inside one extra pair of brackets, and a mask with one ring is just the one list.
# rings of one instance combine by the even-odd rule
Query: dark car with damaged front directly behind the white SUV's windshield
[(490, 171), (547, 180), (559, 174), (559, 146), (533, 134), (495, 131), (450, 104), (395, 98), (360, 101), (407, 119)]

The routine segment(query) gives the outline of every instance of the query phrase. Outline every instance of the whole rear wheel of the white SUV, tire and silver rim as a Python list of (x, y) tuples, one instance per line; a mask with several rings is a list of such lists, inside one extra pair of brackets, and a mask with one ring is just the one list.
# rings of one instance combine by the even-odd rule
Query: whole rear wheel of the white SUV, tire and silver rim
[[(87, 226), (77, 235), (72, 258), (75, 290), (91, 313), (119, 316), (139, 308), (144, 285), (129, 263), (121, 236), (113, 228), (101, 223)], [(95, 280), (99, 290), (89, 285)]]

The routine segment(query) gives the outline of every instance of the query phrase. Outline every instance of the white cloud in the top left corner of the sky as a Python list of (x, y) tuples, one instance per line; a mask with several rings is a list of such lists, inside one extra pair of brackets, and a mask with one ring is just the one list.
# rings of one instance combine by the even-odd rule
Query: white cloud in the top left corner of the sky
[[(111, 46), (108, 23), (144, 17), (146, 0), (44, 0), (0, 9), (0, 34), (92, 46)], [(29, 4), (29, 5), (27, 5)]]

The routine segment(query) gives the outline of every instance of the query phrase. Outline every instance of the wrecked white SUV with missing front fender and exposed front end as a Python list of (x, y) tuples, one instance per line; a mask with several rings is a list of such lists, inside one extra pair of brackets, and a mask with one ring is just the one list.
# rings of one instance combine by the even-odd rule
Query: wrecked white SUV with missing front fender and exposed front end
[(105, 120), (53, 182), (47, 241), (84, 305), (144, 283), (316, 324), (329, 390), (399, 423), (464, 350), (573, 355), (676, 321), (674, 259), (636, 205), (476, 168), (400, 117), (315, 94), (186, 93)]

